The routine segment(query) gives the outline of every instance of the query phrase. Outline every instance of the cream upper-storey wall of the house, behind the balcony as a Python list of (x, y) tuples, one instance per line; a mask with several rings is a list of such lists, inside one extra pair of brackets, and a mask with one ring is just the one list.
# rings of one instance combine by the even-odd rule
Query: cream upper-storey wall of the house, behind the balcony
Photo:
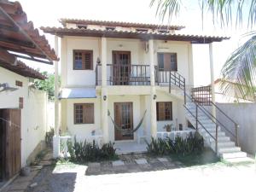
[[(63, 37), (61, 38), (61, 86), (95, 86), (96, 58), (101, 57), (101, 38)], [(73, 49), (93, 50), (94, 70), (73, 70)], [(149, 53), (145, 42), (132, 38), (107, 38), (107, 62), (113, 63), (113, 50), (131, 51), (131, 64), (149, 65)], [(193, 84), (193, 58), (189, 42), (154, 40), (154, 65), (157, 65), (158, 52), (177, 53), (177, 72)], [(149, 70), (149, 68), (148, 68)], [(149, 71), (147, 72), (149, 73)], [(108, 70), (108, 76), (110, 71)], [(99, 77), (101, 74), (99, 73)]]

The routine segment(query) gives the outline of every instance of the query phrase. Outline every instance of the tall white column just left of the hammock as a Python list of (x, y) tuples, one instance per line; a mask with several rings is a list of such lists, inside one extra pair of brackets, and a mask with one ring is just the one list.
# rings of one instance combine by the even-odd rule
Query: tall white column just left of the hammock
[(102, 38), (102, 131), (104, 143), (109, 142), (108, 135), (108, 90), (107, 90), (107, 38)]

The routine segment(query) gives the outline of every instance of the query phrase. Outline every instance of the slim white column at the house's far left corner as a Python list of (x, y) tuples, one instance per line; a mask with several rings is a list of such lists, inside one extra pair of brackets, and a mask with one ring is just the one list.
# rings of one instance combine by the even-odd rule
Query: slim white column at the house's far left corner
[[(59, 45), (58, 37), (55, 36), (55, 53), (58, 55)], [(59, 61), (54, 61), (55, 65), (55, 136), (53, 137), (53, 157), (57, 158), (60, 154), (60, 134), (59, 134)]]

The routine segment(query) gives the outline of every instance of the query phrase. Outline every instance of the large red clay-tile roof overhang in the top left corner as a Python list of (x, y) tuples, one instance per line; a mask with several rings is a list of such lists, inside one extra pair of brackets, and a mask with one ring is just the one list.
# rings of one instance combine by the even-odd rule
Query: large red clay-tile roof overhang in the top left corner
[(0, 48), (29, 55), (32, 60), (58, 60), (47, 39), (27, 21), (19, 2), (0, 1)]

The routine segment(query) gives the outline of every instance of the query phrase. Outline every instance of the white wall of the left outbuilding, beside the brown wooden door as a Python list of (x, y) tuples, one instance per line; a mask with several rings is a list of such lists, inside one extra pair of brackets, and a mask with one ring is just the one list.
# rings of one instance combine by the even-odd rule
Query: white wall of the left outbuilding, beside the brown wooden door
[(21, 166), (26, 166), (26, 159), (38, 143), (44, 140), (47, 127), (47, 94), (41, 90), (29, 88), (29, 79), (0, 67), (0, 83), (15, 86), (15, 81), (23, 87), (13, 92), (0, 92), (0, 108), (19, 108), (19, 97), (24, 98), (21, 109)]

